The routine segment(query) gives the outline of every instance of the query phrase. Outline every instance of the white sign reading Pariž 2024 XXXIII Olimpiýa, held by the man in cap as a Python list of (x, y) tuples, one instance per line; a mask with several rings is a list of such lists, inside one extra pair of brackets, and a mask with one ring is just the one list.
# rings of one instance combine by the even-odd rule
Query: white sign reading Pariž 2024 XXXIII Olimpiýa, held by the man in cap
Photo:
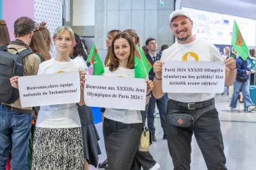
[(222, 93), (225, 83), (224, 62), (164, 61), (164, 93)]

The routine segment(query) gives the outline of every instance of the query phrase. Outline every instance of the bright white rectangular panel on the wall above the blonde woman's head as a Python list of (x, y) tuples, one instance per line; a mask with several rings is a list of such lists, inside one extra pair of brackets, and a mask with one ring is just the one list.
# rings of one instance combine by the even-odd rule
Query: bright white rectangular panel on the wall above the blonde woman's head
[(94, 26), (95, 0), (73, 1), (73, 26)]

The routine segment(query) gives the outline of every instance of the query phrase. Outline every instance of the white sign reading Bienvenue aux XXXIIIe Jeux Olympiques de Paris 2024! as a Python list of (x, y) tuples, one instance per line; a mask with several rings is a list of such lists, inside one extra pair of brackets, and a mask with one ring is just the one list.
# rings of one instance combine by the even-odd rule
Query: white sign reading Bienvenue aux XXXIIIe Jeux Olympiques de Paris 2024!
[(88, 75), (84, 85), (86, 105), (123, 110), (145, 110), (144, 79)]

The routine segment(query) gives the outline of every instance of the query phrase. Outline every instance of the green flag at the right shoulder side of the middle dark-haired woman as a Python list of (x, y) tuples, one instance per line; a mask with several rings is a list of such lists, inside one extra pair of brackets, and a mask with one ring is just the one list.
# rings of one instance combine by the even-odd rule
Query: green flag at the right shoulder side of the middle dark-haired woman
[(146, 79), (148, 73), (152, 69), (152, 65), (148, 58), (143, 54), (139, 46), (136, 46), (134, 52), (134, 69), (135, 69), (135, 78)]

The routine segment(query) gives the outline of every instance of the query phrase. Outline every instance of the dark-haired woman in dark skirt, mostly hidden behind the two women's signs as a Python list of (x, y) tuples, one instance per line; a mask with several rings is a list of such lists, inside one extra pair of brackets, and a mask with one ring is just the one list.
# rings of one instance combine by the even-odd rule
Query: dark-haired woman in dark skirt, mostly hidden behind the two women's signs
[[(88, 63), (86, 60), (88, 54), (86, 54), (86, 44), (75, 34), (76, 46), (70, 48), (69, 56), (84, 67), (84, 71), (88, 74)], [(90, 62), (89, 62), (90, 63)], [(101, 154), (100, 146), (98, 140), (98, 132), (94, 126), (94, 120), (92, 116), (92, 110), (87, 105), (78, 105), (77, 110), (79, 118), (82, 124), (82, 134), (83, 134), (83, 144), (84, 144), (84, 169), (90, 170), (90, 165), (97, 167), (98, 165), (98, 155)]]

